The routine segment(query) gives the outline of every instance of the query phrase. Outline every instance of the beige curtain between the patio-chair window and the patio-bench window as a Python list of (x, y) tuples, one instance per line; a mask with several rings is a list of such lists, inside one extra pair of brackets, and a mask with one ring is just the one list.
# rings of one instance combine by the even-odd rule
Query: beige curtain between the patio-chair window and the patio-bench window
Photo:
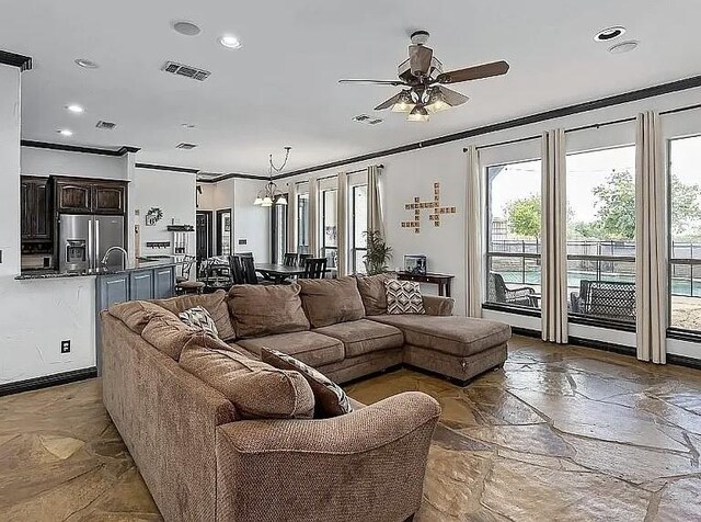
[(541, 328), (543, 341), (567, 342), (567, 200), (565, 133), (543, 133)]

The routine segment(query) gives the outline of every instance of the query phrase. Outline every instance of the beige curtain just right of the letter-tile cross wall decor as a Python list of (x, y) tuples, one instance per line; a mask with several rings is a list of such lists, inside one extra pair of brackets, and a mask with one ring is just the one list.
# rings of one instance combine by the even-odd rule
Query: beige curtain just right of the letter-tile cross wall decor
[(468, 317), (482, 317), (482, 177), (480, 155), (474, 145), (467, 149), (468, 179), (464, 207), (467, 250), (466, 281)]

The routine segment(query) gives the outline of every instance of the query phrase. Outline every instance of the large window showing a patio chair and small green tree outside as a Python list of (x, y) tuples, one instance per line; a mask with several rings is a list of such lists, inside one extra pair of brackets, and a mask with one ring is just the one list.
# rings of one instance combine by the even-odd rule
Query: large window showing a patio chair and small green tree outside
[(540, 308), (540, 160), (487, 168), (486, 302)]

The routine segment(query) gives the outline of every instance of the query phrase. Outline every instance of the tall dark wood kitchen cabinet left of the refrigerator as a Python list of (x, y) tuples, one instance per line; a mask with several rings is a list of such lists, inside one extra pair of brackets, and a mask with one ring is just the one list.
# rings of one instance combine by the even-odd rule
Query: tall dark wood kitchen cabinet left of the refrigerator
[(54, 213), (48, 178), (20, 178), (20, 212), (22, 241), (51, 240)]

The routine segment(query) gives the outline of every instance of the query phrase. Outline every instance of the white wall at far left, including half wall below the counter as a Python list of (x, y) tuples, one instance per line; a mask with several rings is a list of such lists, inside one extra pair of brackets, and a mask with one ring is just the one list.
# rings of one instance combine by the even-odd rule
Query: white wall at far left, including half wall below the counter
[[(47, 174), (38, 168), (31, 173)], [(94, 277), (15, 281), (20, 272), (20, 72), (0, 66), (0, 384), (94, 361)], [(60, 354), (60, 341), (71, 353)]]

